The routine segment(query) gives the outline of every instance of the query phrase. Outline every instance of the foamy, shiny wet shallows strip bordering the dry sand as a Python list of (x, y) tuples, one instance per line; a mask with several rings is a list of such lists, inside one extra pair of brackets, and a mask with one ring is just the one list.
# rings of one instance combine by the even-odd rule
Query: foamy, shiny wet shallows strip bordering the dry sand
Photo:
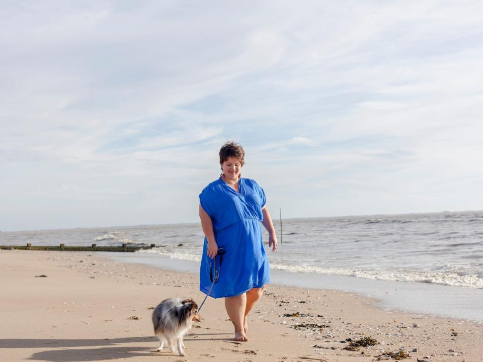
[[(171, 259), (151, 253), (106, 253), (113, 261), (137, 263), (177, 271), (198, 274), (199, 263)], [(291, 273), (270, 270), (271, 284), (296, 288), (338, 290), (357, 293), (374, 299), (381, 309), (403, 311), (429, 316), (464, 319), (483, 323), (483, 289), (453, 287), (438, 284), (369, 280), (348, 276)], [(479, 308), (478, 308), (479, 306)]]

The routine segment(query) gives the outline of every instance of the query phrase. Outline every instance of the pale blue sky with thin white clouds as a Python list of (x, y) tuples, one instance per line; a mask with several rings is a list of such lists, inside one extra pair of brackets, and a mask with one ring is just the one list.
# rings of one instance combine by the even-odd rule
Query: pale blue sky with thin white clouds
[(480, 1), (0, 2), (0, 230), (483, 209)]

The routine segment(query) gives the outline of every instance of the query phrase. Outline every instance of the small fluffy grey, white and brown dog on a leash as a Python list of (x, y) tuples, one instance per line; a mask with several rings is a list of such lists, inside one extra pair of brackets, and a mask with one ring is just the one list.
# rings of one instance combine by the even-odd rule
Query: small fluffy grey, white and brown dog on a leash
[(190, 330), (193, 321), (201, 322), (198, 305), (193, 299), (169, 298), (159, 303), (152, 311), (154, 335), (159, 338), (157, 350), (163, 351), (164, 340), (168, 342), (171, 352), (175, 352), (173, 341), (178, 344), (180, 356), (184, 356), (183, 336)]

